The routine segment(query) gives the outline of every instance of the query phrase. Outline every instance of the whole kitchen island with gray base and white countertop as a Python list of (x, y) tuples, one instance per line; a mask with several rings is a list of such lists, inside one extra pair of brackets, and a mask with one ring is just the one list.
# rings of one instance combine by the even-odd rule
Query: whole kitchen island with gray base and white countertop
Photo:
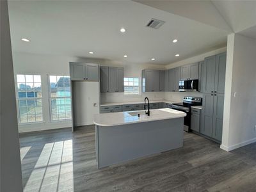
[(145, 110), (94, 115), (98, 168), (182, 147), (184, 116), (169, 108), (150, 116)]

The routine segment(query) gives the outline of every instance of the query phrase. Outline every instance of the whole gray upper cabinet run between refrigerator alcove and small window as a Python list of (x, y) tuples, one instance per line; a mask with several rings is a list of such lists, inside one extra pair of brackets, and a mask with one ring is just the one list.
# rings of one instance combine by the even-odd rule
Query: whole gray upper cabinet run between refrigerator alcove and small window
[(100, 92), (124, 92), (124, 68), (100, 67)]

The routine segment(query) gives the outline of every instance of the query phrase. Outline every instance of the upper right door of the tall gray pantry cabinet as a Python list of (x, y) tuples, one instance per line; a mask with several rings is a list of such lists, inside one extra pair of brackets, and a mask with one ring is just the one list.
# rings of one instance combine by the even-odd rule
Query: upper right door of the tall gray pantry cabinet
[(226, 74), (227, 53), (223, 52), (216, 55), (215, 84), (214, 92), (224, 94), (225, 74)]

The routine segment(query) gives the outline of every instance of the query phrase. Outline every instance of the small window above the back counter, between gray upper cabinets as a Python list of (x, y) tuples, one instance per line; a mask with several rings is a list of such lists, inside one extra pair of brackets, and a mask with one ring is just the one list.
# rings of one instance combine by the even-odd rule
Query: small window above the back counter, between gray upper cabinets
[(138, 77), (124, 77), (124, 94), (125, 95), (139, 95), (139, 78)]

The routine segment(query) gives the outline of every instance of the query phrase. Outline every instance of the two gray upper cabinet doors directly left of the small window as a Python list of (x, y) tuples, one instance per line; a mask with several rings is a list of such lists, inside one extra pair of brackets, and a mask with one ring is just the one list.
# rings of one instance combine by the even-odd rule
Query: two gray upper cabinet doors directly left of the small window
[(111, 93), (124, 92), (124, 68), (108, 67), (108, 90)]

